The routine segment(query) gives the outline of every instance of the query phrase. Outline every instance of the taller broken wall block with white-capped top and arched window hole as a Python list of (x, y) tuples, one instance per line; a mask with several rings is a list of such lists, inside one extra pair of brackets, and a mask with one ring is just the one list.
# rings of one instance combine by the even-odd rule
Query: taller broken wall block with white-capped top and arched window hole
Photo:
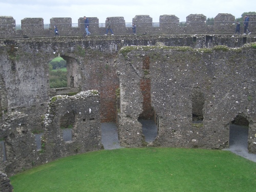
[[(96, 90), (51, 98), (42, 135), (47, 161), (102, 147), (99, 105), (100, 96)], [(71, 134), (68, 141), (63, 139), (65, 133)]]

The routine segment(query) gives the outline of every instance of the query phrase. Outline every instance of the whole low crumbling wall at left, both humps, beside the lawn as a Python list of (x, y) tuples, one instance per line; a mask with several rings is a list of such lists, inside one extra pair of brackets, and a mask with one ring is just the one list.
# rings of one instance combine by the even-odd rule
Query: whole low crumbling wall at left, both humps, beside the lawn
[(33, 131), (29, 118), (14, 112), (1, 123), (0, 170), (8, 176), (61, 157), (102, 148), (100, 96), (96, 90), (52, 97), (42, 117), (41, 131)]

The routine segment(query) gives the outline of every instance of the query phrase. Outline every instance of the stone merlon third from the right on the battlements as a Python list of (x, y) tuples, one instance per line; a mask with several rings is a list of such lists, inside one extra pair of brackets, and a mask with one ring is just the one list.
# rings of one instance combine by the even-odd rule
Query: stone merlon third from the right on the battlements
[(186, 17), (187, 33), (205, 33), (206, 16), (203, 14), (190, 14)]

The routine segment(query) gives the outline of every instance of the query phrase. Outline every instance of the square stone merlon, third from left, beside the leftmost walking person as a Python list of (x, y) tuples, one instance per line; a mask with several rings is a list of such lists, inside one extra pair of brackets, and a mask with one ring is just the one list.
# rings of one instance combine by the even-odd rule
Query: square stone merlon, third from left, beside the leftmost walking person
[(70, 17), (55, 17), (50, 19), (50, 35), (54, 35), (54, 26), (59, 35), (72, 35), (72, 19)]

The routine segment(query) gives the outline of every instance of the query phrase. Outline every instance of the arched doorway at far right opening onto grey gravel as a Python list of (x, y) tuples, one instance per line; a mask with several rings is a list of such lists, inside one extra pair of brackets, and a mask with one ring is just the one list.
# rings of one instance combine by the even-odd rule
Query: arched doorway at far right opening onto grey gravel
[(247, 150), (248, 148), (249, 121), (237, 115), (229, 125), (229, 148), (236, 152)]

